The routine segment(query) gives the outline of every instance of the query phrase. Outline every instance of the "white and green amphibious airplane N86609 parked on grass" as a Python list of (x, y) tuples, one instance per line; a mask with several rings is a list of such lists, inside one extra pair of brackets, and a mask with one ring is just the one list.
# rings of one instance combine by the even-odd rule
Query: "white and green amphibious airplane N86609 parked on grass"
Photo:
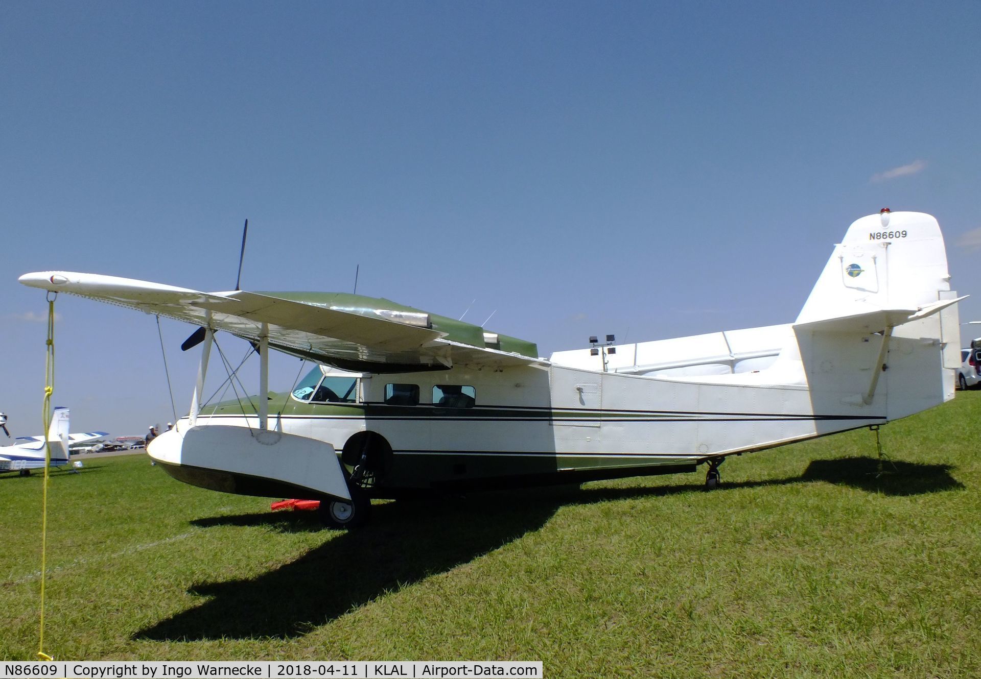
[[(370, 498), (411, 492), (702, 462), (712, 487), (727, 456), (944, 403), (959, 364), (962, 298), (937, 220), (888, 210), (852, 223), (793, 323), (550, 359), (530, 342), (385, 299), (207, 293), (67, 271), (20, 280), (200, 325), (183, 345), (203, 342), (190, 412), (150, 456), (205, 488), (321, 499), (334, 526), (363, 521)], [(260, 397), (203, 408), (218, 330), (256, 347)], [(268, 394), (269, 349), (318, 365), (293, 391)]]

